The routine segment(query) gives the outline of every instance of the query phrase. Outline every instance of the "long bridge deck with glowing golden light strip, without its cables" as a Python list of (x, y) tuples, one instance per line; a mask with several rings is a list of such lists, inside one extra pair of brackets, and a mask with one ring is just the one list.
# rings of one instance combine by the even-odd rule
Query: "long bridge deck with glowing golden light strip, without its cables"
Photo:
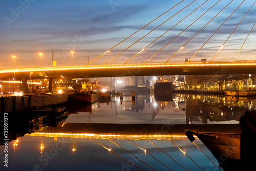
[(0, 70), (0, 79), (15, 77), (16, 80), (30, 76), (31, 79), (120, 77), (152, 75), (225, 75), (256, 74), (256, 61), (217, 62), (168, 62), (126, 63), (111, 65), (61, 66)]

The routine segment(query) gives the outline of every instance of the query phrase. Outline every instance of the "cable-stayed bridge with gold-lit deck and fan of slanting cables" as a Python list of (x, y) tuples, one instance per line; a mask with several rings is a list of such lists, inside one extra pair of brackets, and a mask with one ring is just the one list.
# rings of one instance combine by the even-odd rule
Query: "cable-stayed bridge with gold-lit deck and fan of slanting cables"
[[(10, 77), (16, 77), (22, 79), (23, 77), (31, 77), (33, 78), (56, 78), (56, 77), (109, 77), (109, 76), (146, 76), (146, 75), (207, 75), (207, 74), (256, 74), (256, 71), (254, 70), (256, 62), (252, 61), (251, 58), (253, 58), (254, 55), (254, 49), (248, 50), (248, 53), (246, 53), (246, 56), (242, 56), (241, 58), (240, 53), (241, 50), (245, 47), (247, 44), (253, 44), (253, 42), (248, 42), (248, 38), (252, 38), (255, 36), (255, 32), (253, 32), (254, 26), (256, 24), (255, 18), (250, 17), (254, 10), (254, 4), (256, 1), (240, 1), (239, 3), (237, 1), (231, 0), (231, 1), (215, 1), (214, 3), (212, 1), (206, 0), (203, 1), (198, 6), (193, 6), (198, 1), (180, 1), (176, 5), (174, 5), (172, 8), (168, 9), (161, 15), (159, 15), (157, 18), (153, 19), (150, 23), (146, 24), (130, 36), (126, 37), (122, 41), (118, 42), (115, 46), (110, 48), (109, 50), (105, 51), (103, 54), (99, 55), (98, 57), (94, 58), (93, 60), (89, 61), (88, 63), (81, 65), (81, 66), (58, 66), (58, 67), (38, 67), (38, 68), (15, 68), (15, 69), (8, 69), (8, 70), (0, 70), (0, 78), (6, 79)], [(221, 4), (222, 3), (222, 4)], [(220, 4), (221, 7), (220, 8)], [(244, 7), (244, 5), (247, 4), (247, 7)], [(249, 6), (248, 6), (249, 4)], [(218, 6), (219, 5), (219, 6)], [(190, 7), (193, 6), (193, 10), (189, 11), (187, 15), (183, 16), (181, 13)], [(204, 7), (204, 8), (203, 8)], [(217, 8), (217, 9), (216, 9)], [(213, 9), (215, 11), (218, 11), (217, 13), (210, 13)], [(171, 13), (171, 14), (170, 14)], [(195, 15), (197, 13), (198, 15)], [(242, 15), (241, 15), (242, 13)], [(250, 15), (249, 15), (250, 14)], [(168, 22), (173, 17), (181, 16), (179, 22), (176, 24), (173, 24), (172, 26), (169, 26), (169, 29), (167, 29), (164, 33), (160, 34), (152, 40), (151, 42), (147, 42), (146, 46), (142, 48), (140, 51), (135, 53), (134, 55), (131, 55), (128, 60), (125, 60), (123, 62), (122, 54), (129, 51), (132, 47), (135, 45), (138, 45), (138, 43), (148, 36), (151, 33), (159, 33), (159, 28), (163, 26), (166, 22)], [(179, 24), (184, 24), (184, 20), (191, 18), (191, 16), (194, 16), (193, 19), (190, 19), (190, 24), (187, 24), (183, 30), (180, 30), (179, 33), (177, 33), (176, 29)], [(238, 16), (239, 15), (239, 16)], [(241, 15), (241, 16), (240, 16)], [(165, 20), (162, 19), (162, 17), (165, 17)], [(232, 19), (236, 17), (236, 19)], [(167, 19), (166, 19), (167, 18)], [(206, 19), (207, 18), (207, 19)], [(221, 19), (220, 19), (221, 18)], [(246, 22), (245, 22), (246, 19)], [(113, 55), (110, 59), (109, 54), (111, 51), (113, 51), (116, 47), (119, 45), (126, 45), (127, 40), (129, 38), (132, 38), (135, 34), (138, 32), (144, 31), (144, 29), (147, 26), (150, 26), (152, 23), (160, 20), (160, 24), (152, 29), (150, 32), (146, 33), (144, 36), (140, 37), (136, 41), (132, 42), (131, 45), (127, 46), (123, 50), (115, 50), (119, 51), (115, 56)], [(219, 22), (221, 20), (221, 22)], [(230, 26), (230, 20), (232, 20), (232, 26)], [(191, 35), (188, 40), (183, 40), (180, 43), (183, 44), (181, 47), (175, 47), (172, 46), (172, 50), (177, 49), (176, 53), (174, 54), (165, 54), (164, 61), (158, 60), (158, 56), (163, 52), (164, 49), (170, 49), (170, 44), (175, 42), (177, 38), (182, 36), (183, 34), (186, 34), (186, 32), (189, 31), (190, 27), (193, 27), (194, 25), (197, 25), (200, 21), (200, 27), (197, 30), (197, 32), (194, 35)], [(228, 23), (229, 22), (229, 23)], [(243, 23), (246, 23), (245, 25), (242, 25)], [(204, 37), (205, 40), (203, 42), (197, 43), (197, 45), (200, 45), (197, 47), (198, 50), (195, 50), (193, 52), (193, 55), (187, 56), (183, 55), (184, 49), (186, 49), (187, 45), (193, 44), (193, 40), (197, 40), (198, 36), (202, 34), (202, 32), (209, 27), (213, 27), (218, 25), (217, 29), (211, 29), (211, 31), (207, 32), (207, 36)], [(225, 27), (226, 25), (229, 25), (229, 30), (226, 30), (227, 36), (221, 36), (221, 38), (216, 41), (215, 47), (218, 47), (216, 49), (216, 52), (213, 54), (206, 54), (203, 55), (204, 57), (207, 56), (207, 61), (202, 60), (198, 61), (197, 55), (199, 52), (203, 51), (203, 49), (211, 49), (212, 47), (209, 47), (210, 39), (213, 37), (219, 36), (218, 32), (220, 32), (220, 29)], [(249, 27), (248, 27), (249, 26)], [(225, 28), (223, 28), (225, 29)], [(232, 59), (228, 59), (225, 61), (220, 61), (220, 57), (225, 59), (225, 56), (220, 55), (221, 51), (224, 51), (225, 47), (231, 46), (228, 45), (231, 37), (234, 37), (236, 35), (236, 32), (241, 32), (240, 30), (243, 30), (243, 36), (240, 35), (239, 41), (237, 41), (236, 47), (239, 47), (237, 49), (232, 49), (232, 53), (236, 54), (233, 56)], [(173, 32), (172, 32), (173, 31)], [(178, 30), (179, 31), (179, 30)], [(143, 60), (140, 58), (140, 55), (143, 55), (143, 53), (146, 53), (146, 51), (151, 51), (151, 47), (156, 44), (161, 37), (164, 35), (166, 36), (166, 33), (177, 33), (177, 35), (169, 37), (168, 42), (159, 48), (156, 52), (154, 52), (152, 55), (143, 58)], [(155, 35), (157, 34), (155, 33)], [(204, 32), (204, 35), (205, 32)], [(140, 44), (141, 45), (141, 44)], [(143, 44), (144, 45), (144, 44)], [(212, 51), (215, 51), (213, 49)], [(192, 50), (190, 50), (192, 51)], [(72, 51), (72, 55), (73, 55)], [(167, 57), (166, 57), (167, 56)], [(178, 56), (178, 57), (177, 57)], [(180, 57), (181, 56), (181, 57)], [(184, 58), (186, 56), (186, 60)], [(248, 58), (248, 60), (247, 60)], [(155, 61), (158, 62), (152, 62), (152, 59), (155, 59)], [(174, 60), (175, 59), (175, 60)], [(177, 59), (179, 60), (177, 62)], [(242, 59), (242, 60), (241, 60)], [(201, 60), (201, 59), (200, 59)], [(122, 61), (122, 62), (120, 62)], [(95, 63), (98, 62), (99, 64), (95, 65)], [(33, 74), (32, 74), (33, 73)]]

